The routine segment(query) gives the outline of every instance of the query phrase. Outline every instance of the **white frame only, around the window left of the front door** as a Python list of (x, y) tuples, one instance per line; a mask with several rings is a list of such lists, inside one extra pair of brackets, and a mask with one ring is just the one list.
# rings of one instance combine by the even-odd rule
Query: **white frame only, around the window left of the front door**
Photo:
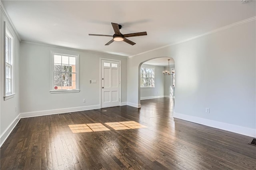
[[(76, 57), (76, 89), (54, 89), (54, 55), (65, 55)], [(79, 54), (68, 53), (65, 51), (51, 51), (50, 69), (50, 93), (79, 93)]]

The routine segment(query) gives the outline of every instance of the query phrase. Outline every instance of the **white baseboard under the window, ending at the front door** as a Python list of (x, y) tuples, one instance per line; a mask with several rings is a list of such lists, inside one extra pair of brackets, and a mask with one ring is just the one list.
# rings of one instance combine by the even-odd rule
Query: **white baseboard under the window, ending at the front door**
[(47, 110), (47, 111), (20, 113), (20, 118), (55, 115), (55, 114), (60, 114), (60, 113), (70, 113), (70, 112), (78, 112), (78, 111), (88, 111), (88, 110), (93, 110), (93, 109), (100, 109), (100, 105), (71, 107), (71, 108), (66, 108), (66, 109), (54, 109), (54, 110)]

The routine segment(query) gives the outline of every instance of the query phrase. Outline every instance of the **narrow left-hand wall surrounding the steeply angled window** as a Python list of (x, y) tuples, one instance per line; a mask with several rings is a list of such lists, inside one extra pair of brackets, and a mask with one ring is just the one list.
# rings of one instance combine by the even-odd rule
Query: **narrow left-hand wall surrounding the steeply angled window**
[[(11, 32), (14, 36), (14, 81), (15, 81), (15, 93), (14, 97), (4, 101), (4, 22), (11, 28)], [(0, 146), (4, 140), (8, 137), (8, 134), (15, 127), (19, 121), (19, 51), (20, 42), (12, 29), (12, 26), (6, 19), (2, 9), (0, 12)]]

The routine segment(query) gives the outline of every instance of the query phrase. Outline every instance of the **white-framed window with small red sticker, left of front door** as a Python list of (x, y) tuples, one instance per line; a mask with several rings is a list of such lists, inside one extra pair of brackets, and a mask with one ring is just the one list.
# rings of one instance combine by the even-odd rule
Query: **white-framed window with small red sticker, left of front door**
[(79, 92), (78, 57), (52, 53), (52, 90), (51, 93)]

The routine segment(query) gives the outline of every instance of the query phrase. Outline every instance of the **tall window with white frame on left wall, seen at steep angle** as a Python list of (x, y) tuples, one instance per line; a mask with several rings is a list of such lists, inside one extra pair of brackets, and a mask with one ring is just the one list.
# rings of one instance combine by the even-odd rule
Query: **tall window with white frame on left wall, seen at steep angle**
[(14, 36), (4, 22), (4, 100), (14, 97)]

